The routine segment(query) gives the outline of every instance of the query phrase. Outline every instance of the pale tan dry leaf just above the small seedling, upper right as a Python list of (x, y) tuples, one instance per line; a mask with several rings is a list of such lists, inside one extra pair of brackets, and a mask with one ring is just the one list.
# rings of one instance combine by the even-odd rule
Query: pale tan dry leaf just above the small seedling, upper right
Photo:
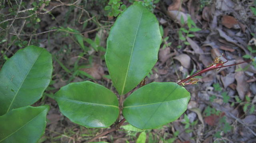
[(172, 18), (172, 20), (174, 20), (174, 22), (181, 24), (181, 16), (183, 17), (184, 19), (184, 24), (187, 23), (187, 20), (188, 20), (188, 16), (189, 14), (185, 14), (184, 12), (181, 12), (181, 11), (178, 11), (178, 10), (168, 10), (167, 12), (168, 16), (170, 16), (170, 18)]

